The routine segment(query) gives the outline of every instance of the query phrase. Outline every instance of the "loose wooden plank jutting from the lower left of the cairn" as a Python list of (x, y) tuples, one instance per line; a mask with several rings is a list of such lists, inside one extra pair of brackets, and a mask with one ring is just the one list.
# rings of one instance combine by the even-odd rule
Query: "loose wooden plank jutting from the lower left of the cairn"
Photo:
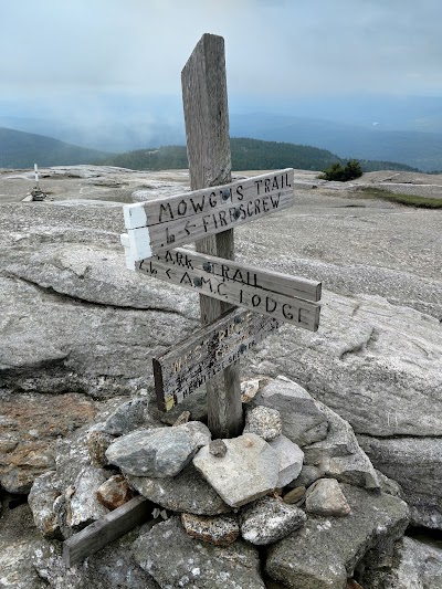
[(138, 496), (94, 522), (63, 543), (63, 561), (67, 568), (95, 554), (107, 544), (151, 518), (154, 504)]

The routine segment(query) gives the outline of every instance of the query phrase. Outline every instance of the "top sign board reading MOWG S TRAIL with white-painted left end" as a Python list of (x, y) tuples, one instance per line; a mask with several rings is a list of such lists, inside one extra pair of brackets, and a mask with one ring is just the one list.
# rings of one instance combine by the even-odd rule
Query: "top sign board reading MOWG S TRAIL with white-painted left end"
[(123, 207), (135, 262), (275, 213), (293, 204), (287, 168), (229, 185)]

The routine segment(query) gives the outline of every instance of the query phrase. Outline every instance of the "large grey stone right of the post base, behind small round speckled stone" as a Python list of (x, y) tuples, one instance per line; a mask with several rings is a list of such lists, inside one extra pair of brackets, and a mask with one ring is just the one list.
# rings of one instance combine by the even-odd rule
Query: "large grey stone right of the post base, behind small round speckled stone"
[(283, 434), (299, 446), (324, 440), (327, 419), (308, 392), (288, 379), (276, 379), (264, 387), (249, 403), (276, 409), (283, 422)]

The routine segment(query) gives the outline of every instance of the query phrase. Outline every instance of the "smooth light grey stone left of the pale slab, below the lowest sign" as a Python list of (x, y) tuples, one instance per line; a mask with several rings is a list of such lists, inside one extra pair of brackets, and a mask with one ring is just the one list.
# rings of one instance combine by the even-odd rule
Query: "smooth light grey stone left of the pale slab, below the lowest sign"
[(175, 476), (210, 440), (203, 423), (189, 421), (176, 428), (137, 430), (124, 435), (109, 445), (106, 456), (135, 476)]

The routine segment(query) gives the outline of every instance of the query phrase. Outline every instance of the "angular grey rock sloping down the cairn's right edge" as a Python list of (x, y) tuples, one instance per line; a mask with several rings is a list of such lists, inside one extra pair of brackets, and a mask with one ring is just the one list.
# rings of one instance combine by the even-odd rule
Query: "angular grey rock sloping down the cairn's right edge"
[(315, 402), (327, 418), (328, 432), (325, 440), (304, 448), (305, 463), (344, 483), (379, 488), (376, 471), (360, 449), (351, 425), (324, 403)]

